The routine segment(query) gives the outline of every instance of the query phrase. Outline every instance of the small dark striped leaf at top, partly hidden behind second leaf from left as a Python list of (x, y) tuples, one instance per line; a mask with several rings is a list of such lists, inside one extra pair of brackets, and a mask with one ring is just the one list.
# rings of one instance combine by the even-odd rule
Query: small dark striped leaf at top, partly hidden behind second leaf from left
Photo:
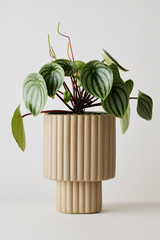
[(65, 73), (65, 76), (72, 76), (77, 71), (76, 64), (68, 59), (58, 59), (54, 63), (59, 64)]

